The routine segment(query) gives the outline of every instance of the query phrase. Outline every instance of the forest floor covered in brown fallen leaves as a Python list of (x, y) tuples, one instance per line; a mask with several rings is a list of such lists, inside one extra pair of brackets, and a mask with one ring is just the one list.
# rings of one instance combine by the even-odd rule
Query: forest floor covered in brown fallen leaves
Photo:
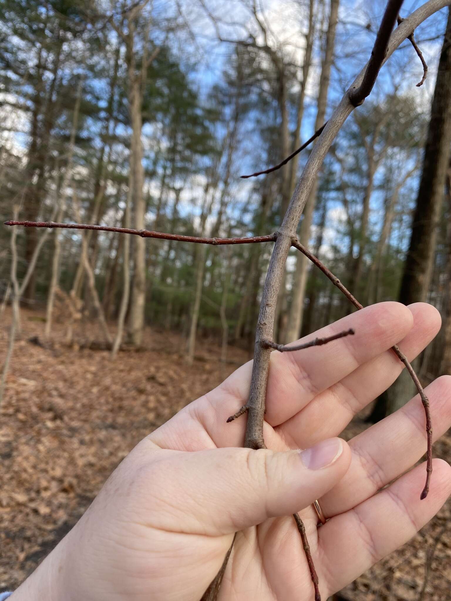
[[(0, 365), (10, 317), (5, 311), (0, 323)], [(60, 324), (53, 347), (30, 342), (42, 340), (41, 313), (22, 310), (22, 329), (0, 412), (0, 591), (17, 587), (54, 548), (138, 441), (247, 360), (230, 348), (233, 363), (222, 364), (219, 346), (202, 341), (188, 367), (180, 335), (149, 329), (147, 348), (119, 353), (113, 367), (106, 351), (65, 346)], [(95, 327), (88, 331), (100, 340)], [(359, 415), (343, 436), (366, 427)], [(434, 454), (451, 462), (451, 431)], [(451, 599), (450, 518), (448, 501), (410, 543), (342, 591), (343, 599)]]

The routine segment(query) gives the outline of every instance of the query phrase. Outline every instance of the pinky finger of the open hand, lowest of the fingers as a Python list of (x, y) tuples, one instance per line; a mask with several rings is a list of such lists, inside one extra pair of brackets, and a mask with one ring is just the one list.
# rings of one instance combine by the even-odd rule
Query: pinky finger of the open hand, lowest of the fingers
[(431, 490), (423, 501), (426, 464), (319, 529), (323, 582), (333, 594), (412, 538), (451, 494), (451, 467), (434, 459)]

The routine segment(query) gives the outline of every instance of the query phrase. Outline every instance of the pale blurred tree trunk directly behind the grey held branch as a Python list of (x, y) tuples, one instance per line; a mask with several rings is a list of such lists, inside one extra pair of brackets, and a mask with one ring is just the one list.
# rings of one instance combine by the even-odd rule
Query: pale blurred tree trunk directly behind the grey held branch
[[(321, 78), (319, 81), (318, 112), (316, 113), (316, 121), (314, 126), (315, 131), (322, 126), (325, 120), (327, 94), (330, 82), (330, 72), (334, 55), (335, 31), (337, 27), (338, 10), (339, 0), (331, 0), (324, 61), (322, 62)], [(299, 234), (299, 239), (301, 240), (302, 244), (304, 244), (304, 246), (308, 246), (308, 242), (310, 240), (311, 221), (313, 218), (313, 210), (317, 192), (318, 178), (314, 180), (313, 186), (310, 190), (310, 194), (307, 198), (307, 203), (305, 204), (304, 219), (302, 219), (301, 233)], [(296, 340), (299, 337), (299, 333), (301, 332), (302, 313), (304, 311), (305, 288), (307, 285), (307, 267), (307, 258), (304, 257), (304, 255), (298, 253), (296, 255), (296, 268), (293, 277), (293, 293), (289, 312), (289, 319), (287, 323), (286, 333), (283, 337), (284, 343), (289, 343), (293, 340)]]

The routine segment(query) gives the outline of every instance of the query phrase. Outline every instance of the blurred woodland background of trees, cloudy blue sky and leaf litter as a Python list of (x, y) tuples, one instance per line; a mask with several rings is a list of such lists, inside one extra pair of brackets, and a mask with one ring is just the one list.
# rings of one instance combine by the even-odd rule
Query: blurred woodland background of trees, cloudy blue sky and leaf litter
[[(384, 4), (1, 0), (2, 221), (272, 233), (308, 150), (239, 176), (280, 162), (324, 123), (369, 56)], [(406, 1), (401, 16), (420, 4)], [(449, 157), (451, 111), (440, 131), (429, 126), (445, 31), (447, 10), (416, 31), (422, 87), (410, 43), (390, 58), (299, 227), (362, 304), (438, 308), (443, 327), (416, 365), (425, 384), (451, 373), (451, 168), (440, 194), (419, 194), (432, 172), (428, 132)], [(437, 93), (451, 106), (450, 78)], [(271, 248), (0, 228), (0, 588), (55, 545), (133, 444), (251, 357)], [(295, 252), (278, 299), (281, 343), (351, 311)], [(345, 436), (414, 394), (400, 384)], [(451, 459), (450, 435), (435, 452)], [(450, 511), (343, 598), (447, 599)]]

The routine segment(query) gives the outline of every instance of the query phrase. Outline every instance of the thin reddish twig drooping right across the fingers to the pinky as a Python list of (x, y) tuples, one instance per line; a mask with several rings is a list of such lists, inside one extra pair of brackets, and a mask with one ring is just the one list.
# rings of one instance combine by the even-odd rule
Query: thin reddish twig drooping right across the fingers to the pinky
[[(340, 282), (339, 278), (334, 276), (334, 274), (331, 272), (331, 270), (327, 269), (327, 267), (321, 263), (321, 261), (319, 260), (318, 257), (315, 257), (313, 254), (311, 254), (311, 252), (308, 251), (307, 248), (305, 248), (305, 246), (302, 245), (301, 242), (299, 242), (299, 240), (297, 238), (293, 239), (292, 244), (295, 248), (298, 249), (298, 251), (301, 251), (302, 254), (305, 255), (305, 257), (310, 259), (310, 261), (314, 265), (316, 265), (316, 267), (321, 269), (321, 271), (324, 273), (324, 275), (327, 276), (330, 279), (330, 281), (337, 288), (339, 288), (340, 291), (342, 291), (343, 294), (345, 294), (346, 298), (349, 299), (349, 302), (351, 302), (354, 305), (354, 307), (357, 307), (357, 309), (359, 309), (359, 310), (363, 309), (363, 305), (361, 305), (360, 302), (358, 302), (357, 299), (354, 296), (352, 296), (351, 292), (349, 292), (348, 288), (346, 288), (342, 284), (342, 282)], [(402, 361), (402, 363), (407, 368), (407, 371), (409, 372), (410, 377), (412, 378), (412, 380), (417, 388), (417, 391), (419, 392), (420, 398), (423, 403), (423, 407), (425, 407), (426, 436), (428, 438), (428, 453), (427, 453), (427, 458), (426, 458), (426, 484), (420, 495), (420, 499), (425, 499), (426, 496), (428, 496), (429, 484), (431, 482), (431, 474), (432, 474), (432, 422), (431, 422), (431, 410), (429, 407), (429, 399), (426, 396), (423, 386), (421, 385), (420, 380), (418, 379), (418, 376), (415, 373), (414, 368), (411, 366), (410, 362), (408, 361), (407, 357), (399, 349), (397, 344), (395, 344), (391, 348), (393, 349), (394, 353), (396, 353), (396, 356), (399, 358), (399, 360)]]

